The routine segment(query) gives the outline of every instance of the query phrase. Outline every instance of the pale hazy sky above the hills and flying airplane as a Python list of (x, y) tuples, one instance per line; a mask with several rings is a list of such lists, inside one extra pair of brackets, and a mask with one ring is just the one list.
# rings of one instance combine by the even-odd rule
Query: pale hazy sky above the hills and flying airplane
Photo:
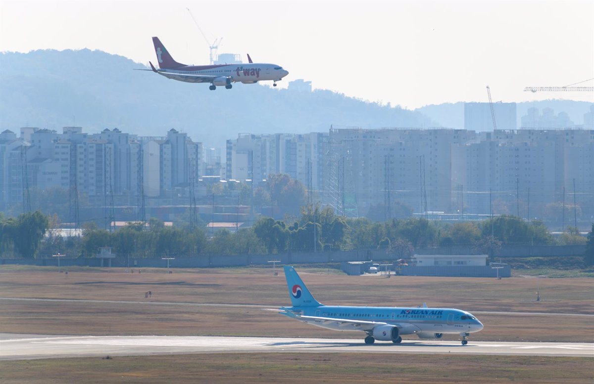
[(594, 78), (592, 0), (0, 0), (0, 51), (89, 48), (147, 63), (159, 36), (178, 62), (206, 64), (186, 8), (208, 39), (223, 37), (219, 53), (285, 67), (283, 86), (303, 78), (406, 108), (486, 101), (486, 85), (494, 101), (594, 102), (592, 92), (523, 92)]

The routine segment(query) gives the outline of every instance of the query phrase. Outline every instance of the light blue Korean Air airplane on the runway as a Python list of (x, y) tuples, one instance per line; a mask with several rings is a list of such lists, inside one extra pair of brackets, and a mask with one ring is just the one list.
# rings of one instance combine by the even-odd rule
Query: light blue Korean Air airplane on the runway
[(400, 308), (364, 306), (328, 306), (319, 303), (295, 271), (286, 266), (285, 277), (292, 307), (267, 309), (295, 320), (336, 331), (364, 331), (365, 344), (375, 340), (402, 342), (402, 335), (417, 335), (421, 339), (440, 339), (443, 334), (459, 334), (462, 345), (468, 344), (471, 332), (483, 325), (475, 316), (451, 308)]

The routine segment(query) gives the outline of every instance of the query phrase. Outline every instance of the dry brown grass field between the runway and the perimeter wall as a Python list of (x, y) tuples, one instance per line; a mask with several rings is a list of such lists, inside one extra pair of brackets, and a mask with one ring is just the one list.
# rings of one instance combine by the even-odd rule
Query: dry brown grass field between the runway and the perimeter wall
[[(288, 305), (285, 277), (270, 268), (143, 270), (120, 268), (0, 267), (0, 297), (72, 301), (0, 300), (0, 332), (75, 335), (272, 335), (353, 337), (311, 327), (257, 306)], [(592, 279), (472, 279), (346, 276), (299, 268), (315, 297), (336, 305), (453, 307), (470, 312), (594, 313)], [(542, 300), (535, 302), (536, 289)], [(151, 291), (152, 297), (145, 298)], [(113, 300), (118, 302), (81, 302)], [(163, 303), (163, 304), (157, 304)], [(165, 304), (169, 303), (169, 304)], [(185, 303), (182, 304), (182, 303)], [(254, 306), (197, 306), (232, 303)], [(592, 341), (591, 318), (481, 313), (485, 329), (471, 340)], [(559, 324), (563, 324), (560, 327)], [(529, 325), (529, 326), (527, 326)], [(456, 340), (456, 337), (451, 337)]]

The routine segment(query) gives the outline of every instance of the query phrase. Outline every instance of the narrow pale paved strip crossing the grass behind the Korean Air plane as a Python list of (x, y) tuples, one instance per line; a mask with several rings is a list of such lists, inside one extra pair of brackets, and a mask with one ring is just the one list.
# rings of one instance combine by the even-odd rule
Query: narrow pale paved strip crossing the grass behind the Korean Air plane
[[(211, 306), (211, 307), (240, 307), (240, 308), (278, 308), (279, 305), (263, 305), (263, 304), (228, 304), (228, 303), (185, 303), (185, 302), (157, 302), (152, 300), (145, 301), (131, 301), (131, 300), (87, 300), (87, 299), (31, 299), (29, 297), (0, 297), (0, 300), (8, 301), (24, 301), (24, 302), (78, 302), (78, 303), (117, 303), (117, 304), (149, 304), (149, 305), (183, 305), (183, 306)], [(501, 311), (472, 311), (475, 315), (508, 315), (508, 316), (525, 316), (525, 315), (543, 315), (543, 316), (577, 316), (577, 317), (592, 317), (594, 314), (590, 313), (558, 313), (558, 312), (501, 312)]]

